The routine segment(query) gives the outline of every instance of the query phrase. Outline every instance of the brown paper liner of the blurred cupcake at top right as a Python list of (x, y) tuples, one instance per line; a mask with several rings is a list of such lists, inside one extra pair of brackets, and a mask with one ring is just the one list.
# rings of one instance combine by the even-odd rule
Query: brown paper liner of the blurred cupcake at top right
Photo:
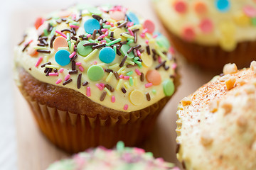
[(219, 45), (206, 46), (195, 42), (187, 42), (174, 33), (170, 33), (171, 42), (188, 62), (215, 71), (222, 71), (227, 63), (235, 63), (239, 68), (249, 67), (256, 59), (256, 41), (239, 42), (235, 50), (227, 52)]

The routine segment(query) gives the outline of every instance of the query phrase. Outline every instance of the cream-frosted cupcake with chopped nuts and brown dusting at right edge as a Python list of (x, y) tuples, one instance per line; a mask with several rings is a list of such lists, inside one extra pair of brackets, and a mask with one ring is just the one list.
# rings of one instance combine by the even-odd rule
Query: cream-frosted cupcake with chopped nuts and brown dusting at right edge
[(256, 169), (256, 62), (226, 64), (178, 106), (177, 156), (185, 169)]

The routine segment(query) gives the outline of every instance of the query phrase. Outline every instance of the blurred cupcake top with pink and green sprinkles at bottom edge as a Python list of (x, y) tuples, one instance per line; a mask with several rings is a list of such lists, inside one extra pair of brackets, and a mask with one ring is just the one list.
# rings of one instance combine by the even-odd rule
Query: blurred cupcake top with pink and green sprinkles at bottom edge
[(63, 159), (51, 164), (46, 170), (83, 170), (83, 169), (141, 169), (141, 170), (179, 170), (164, 159), (154, 159), (151, 152), (137, 147), (124, 147), (118, 142), (115, 149), (97, 147), (75, 154), (70, 159)]

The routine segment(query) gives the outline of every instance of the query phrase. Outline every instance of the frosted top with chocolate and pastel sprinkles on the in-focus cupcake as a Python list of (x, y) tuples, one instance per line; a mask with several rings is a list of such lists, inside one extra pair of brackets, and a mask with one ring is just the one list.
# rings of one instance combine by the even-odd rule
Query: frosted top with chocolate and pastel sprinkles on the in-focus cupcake
[(176, 63), (149, 19), (122, 6), (71, 6), (37, 18), (16, 47), (16, 67), (117, 111), (174, 93)]

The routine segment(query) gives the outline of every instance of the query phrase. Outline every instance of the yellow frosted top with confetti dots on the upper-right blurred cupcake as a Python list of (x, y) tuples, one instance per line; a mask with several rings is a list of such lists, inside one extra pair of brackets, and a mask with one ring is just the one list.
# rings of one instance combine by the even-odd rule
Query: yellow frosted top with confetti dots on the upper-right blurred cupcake
[(203, 45), (232, 51), (238, 42), (256, 40), (256, 2), (252, 0), (154, 0), (172, 33)]

